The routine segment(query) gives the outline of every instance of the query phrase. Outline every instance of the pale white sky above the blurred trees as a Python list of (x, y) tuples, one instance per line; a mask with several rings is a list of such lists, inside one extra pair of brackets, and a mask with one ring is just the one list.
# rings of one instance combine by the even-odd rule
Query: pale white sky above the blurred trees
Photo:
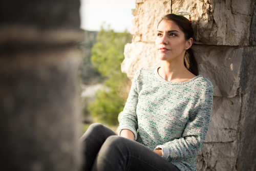
[(135, 0), (80, 0), (81, 29), (99, 31), (110, 25), (115, 32), (130, 32)]

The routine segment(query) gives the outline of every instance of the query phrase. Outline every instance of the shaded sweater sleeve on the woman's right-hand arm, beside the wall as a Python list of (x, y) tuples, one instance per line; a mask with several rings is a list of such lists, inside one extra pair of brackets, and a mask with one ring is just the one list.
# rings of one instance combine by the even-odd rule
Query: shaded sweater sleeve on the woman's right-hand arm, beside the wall
[(155, 148), (162, 149), (163, 158), (169, 161), (180, 161), (198, 155), (209, 128), (213, 93), (213, 87), (208, 87), (194, 110), (189, 112), (189, 120), (181, 138)]

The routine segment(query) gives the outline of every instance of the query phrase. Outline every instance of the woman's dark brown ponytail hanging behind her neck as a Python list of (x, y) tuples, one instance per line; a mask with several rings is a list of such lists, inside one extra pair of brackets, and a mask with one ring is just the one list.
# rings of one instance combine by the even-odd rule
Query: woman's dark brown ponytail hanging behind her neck
[(187, 49), (184, 56), (184, 66), (188, 71), (198, 76), (198, 64), (191, 48)]

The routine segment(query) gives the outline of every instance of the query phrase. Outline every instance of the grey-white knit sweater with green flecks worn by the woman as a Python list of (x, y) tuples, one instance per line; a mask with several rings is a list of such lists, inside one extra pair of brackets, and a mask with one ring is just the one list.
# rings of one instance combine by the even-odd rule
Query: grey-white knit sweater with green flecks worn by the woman
[(196, 156), (206, 137), (214, 87), (201, 75), (185, 82), (164, 80), (156, 68), (136, 72), (120, 118), (135, 141), (162, 149), (163, 158), (180, 170), (196, 170)]

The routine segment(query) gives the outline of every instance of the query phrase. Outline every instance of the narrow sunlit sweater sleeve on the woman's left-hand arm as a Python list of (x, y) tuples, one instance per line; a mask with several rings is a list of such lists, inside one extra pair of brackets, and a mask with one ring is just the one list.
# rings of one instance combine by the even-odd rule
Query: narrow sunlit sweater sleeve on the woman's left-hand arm
[(122, 116), (119, 122), (118, 135), (122, 130), (127, 129), (133, 132), (134, 140), (137, 139), (138, 120), (136, 114), (136, 106), (138, 103), (138, 77), (140, 71), (137, 71), (132, 82), (132, 87), (125, 103)]

